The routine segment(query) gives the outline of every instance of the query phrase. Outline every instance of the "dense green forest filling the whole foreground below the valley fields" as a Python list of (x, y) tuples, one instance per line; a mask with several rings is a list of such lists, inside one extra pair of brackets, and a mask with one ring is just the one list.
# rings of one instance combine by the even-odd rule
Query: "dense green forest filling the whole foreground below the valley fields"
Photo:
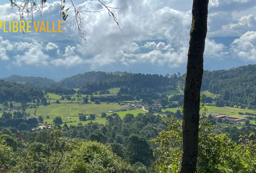
[[(164, 117), (166, 118), (166, 117)], [(106, 117), (106, 125), (51, 125), (38, 130), (0, 129), (0, 170), (7, 172), (177, 172), (182, 121), (146, 113)], [(226, 127), (220, 130), (237, 130)], [(200, 120), (197, 172), (255, 172), (255, 141), (234, 143)], [(235, 163), (235, 164), (234, 164)], [(169, 166), (171, 165), (171, 166)]]

